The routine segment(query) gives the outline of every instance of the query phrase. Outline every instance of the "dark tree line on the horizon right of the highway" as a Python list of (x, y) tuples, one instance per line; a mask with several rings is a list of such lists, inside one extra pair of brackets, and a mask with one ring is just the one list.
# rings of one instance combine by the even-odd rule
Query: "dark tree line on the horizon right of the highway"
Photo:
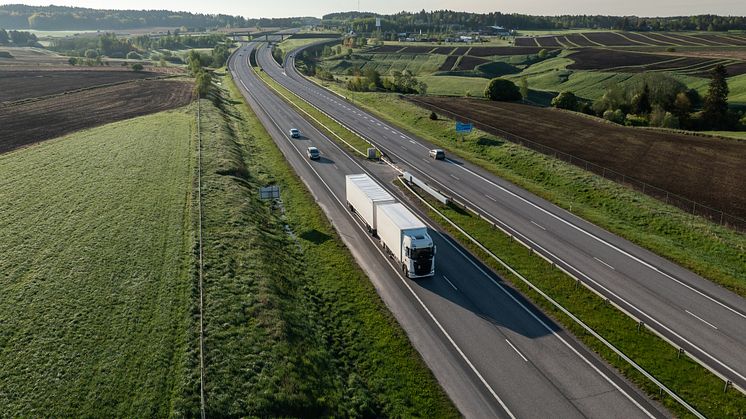
[(364, 12), (331, 13), (322, 17), (321, 25), (328, 29), (346, 29), (362, 33), (377, 31), (376, 18), (381, 19), (384, 33), (419, 32), (448, 33), (476, 31), (487, 26), (508, 29), (621, 29), (630, 31), (726, 31), (746, 29), (744, 16), (678, 16), (638, 17), (602, 15), (532, 16), (518, 13), (470, 13), (452, 10), (422, 10), (378, 15)]

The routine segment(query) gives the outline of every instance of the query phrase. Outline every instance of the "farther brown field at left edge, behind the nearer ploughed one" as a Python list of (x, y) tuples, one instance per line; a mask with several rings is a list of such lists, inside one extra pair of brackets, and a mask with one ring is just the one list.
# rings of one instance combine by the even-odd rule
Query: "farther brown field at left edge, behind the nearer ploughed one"
[(0, 70), (0, 102), (53, 95), (102, 84), (162, 76), (147, 71), (122, 70)]

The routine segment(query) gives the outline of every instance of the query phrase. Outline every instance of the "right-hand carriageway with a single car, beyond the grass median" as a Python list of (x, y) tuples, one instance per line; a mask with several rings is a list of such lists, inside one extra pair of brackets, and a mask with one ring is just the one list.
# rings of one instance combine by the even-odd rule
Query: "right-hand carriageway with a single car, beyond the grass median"
[(644, 322), (740, 389), (746, 388), (746, 300), (458, 158), (435, 162), (432, 144), (304, 78), (291, 51), (273, 79), (369, 140), (402, 169), (465, 203)]

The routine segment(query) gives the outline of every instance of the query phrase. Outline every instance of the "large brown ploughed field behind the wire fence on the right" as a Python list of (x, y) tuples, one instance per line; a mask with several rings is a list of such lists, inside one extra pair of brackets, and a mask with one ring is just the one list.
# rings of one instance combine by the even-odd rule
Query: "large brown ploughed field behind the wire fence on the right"
[[(413, 99), (445, 116), (460, 115), (459, 120), (473, 121), (511, 141), (522, 137), (746, 218), (746, 141), (627, 128), (515, 103), (452, 97)], [(552, 154), (546, 149), (543, 152)]]

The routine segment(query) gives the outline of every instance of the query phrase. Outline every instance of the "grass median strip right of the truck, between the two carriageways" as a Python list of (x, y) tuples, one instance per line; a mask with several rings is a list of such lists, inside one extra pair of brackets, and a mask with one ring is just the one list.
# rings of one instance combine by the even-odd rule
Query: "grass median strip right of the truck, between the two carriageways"
[[(411, 194), (409, 191), (406, 192)], [(667, 342), (646, 329), (638, 330), (637, 324), (632, 319), (605, 303), (603, 299), (585, 287), (576, 286), (574, 280), (552, 267), (544, 259), (527, 252), (524, 246), (509, 236), (496, 231), (489, 223), (471, 212), (455, 205), (442, 205), (426, 196), (423, 198), (705, 416), (743, 417), (746, 415), (746, 397), (741, 393), (733, 389), (724, 393), (723, 381), (718, 377), (687, 356), (679, 358), (676, 350)], [(416, 202), (420, 204), (419, 200), (416, 200)], [(420, 206), (427, 211), (431, 219), (439, 223), (463, 246), (478, 255), (482, 261), (510, 281), (521, 293), (540, 306), (544, 312), (554, 317), (588, 347), (644, 389), (652, 399), (661, 401), (678, 417), (691, 416), (673, 398), (667, 397), (665, 394), (661, 396), (659, 389), (652, 382), (648, 381), (625, 361), (619, 359), (603, 343), (588, 334), (571, 318), (557, 310), (551, 303), (505, 269), (456, 228), (445, 222), (435, 211), (425, 205), (420, 204)]]

